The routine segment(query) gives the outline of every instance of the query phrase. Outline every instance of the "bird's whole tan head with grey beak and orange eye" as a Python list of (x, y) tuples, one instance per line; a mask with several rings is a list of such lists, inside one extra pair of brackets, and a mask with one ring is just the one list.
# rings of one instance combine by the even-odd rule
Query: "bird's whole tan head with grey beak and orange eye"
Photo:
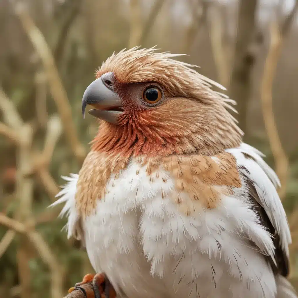
[(179, 56), (138, 47), (111, 55), (96, 72), (82, 112), (100, 119), (93, 150), (131, 155), (212, 155), (240, 145), (227, 111), (234, 102)]

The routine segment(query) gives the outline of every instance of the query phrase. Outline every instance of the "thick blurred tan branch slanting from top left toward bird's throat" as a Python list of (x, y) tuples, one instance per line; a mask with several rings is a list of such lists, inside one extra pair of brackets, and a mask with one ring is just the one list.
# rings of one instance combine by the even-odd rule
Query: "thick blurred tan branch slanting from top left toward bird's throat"
[(15, 13), (20, 19), (28, 38), (32, 42), (43, 62), (49, 82), (50, 92), (60, 114), (66, 139), (69, 142), (72, 153), (79, 160), (79, 162), (82, 162), (86, 156), (86, 152), (79, 142), (75, 125), (72, 121), (72, 113), (69, 100), (63, 84), (60, 80), (54, 57), (49, 49), (49, 46), (46, 43), (44, 36), (42, 35), (41, 31), (35, 26), (30, 15), (28, 15), (26, 10), (24, 9), (22, 3), (19, 3), (16, 6)]

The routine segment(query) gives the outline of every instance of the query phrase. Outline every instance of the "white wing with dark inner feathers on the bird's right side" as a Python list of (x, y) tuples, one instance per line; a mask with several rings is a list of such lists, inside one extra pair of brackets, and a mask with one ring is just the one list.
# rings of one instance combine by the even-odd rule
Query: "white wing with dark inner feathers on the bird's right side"
[(261, 223), (272, 235), (275, 250), (274, 254), (269, 253), (268, 256), (271, 266), (275, 272), (287, 276), (291, 234), (285, 210), (276, 191), (280, 181), (257, 149), (243, 143), (239, 148), (226, 151), (235, 156), (239, 173), (246, 184), (244, 195), (249, 197)]

